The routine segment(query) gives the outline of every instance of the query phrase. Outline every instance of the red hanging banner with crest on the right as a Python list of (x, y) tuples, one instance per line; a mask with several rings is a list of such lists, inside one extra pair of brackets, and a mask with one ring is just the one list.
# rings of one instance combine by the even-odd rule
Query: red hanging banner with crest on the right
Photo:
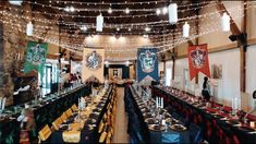
[(193, 80), (198, 72), (202, 72), (210, 77), (207, 44), (190, 46), (187, 58), (191, 80)]

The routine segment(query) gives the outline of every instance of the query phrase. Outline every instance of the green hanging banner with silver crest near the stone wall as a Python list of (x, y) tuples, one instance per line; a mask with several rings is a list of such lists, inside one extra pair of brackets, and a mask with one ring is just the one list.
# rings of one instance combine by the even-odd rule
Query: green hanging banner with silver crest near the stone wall
[(28, 73), (33, 70), (42, 73), (46, 63), (47, 49), (48, 44), (46, 43), (27, 43), (24, 73)]

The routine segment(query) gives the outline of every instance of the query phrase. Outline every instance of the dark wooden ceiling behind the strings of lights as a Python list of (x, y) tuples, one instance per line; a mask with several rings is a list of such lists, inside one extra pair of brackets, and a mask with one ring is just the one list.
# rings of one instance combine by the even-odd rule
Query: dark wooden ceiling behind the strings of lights
[[(61, 1), (61, 0), (59, 0)], [(73, 3), (72, 3), (73, 1)], [(56, 15), (58, 14), (69, 14), (69, 15), (86, 15), (86, 16), (94, 16), (94, 17), (72, 17), (72, 16), (59, 16), (59, 23), (58, 25), (60, 26), (61, 29), (66, 29), (69, 31), (70, 34), (74, 34), (74, 33), (78, 33), (80, 35), (89, 35), (89, 34), (100, 34), (100, 33), (96, 33), (95, 27), (94, 28), (88, 28), (86, 32), (82, 32), (80, 31), (80, 27), (77, 26), (68, 26), (62, 24), (62, 22), (65, 23), (76, 23), (77, 25), (80, 25), (81, 23), (92, 23), (93, 25), (96, 25), (96, 16), (99, 14), (101, 9), (109, 9), (109, 4), (98, 4), (101, 3), (102, 1), (100, 0), (94, 0), (94, 1), (84, 1), (84, 0), (72, 0), (69, 2), (58, 2), (58, 0), (46, 0), (46, 1), (41, 1), (41, 0), (32, 0), (29, 2), (32, 10), (33, 11), (39, 11), (44, 14), (45, 11), (47, 11), (47, 13), (51, 13), (53, 16), (49, 16), (49, 14), (44, 14), (47, 19), (49, 20), (53, 20), (56, 19)], [(151, 0), (126, 0), (127, 3), (131, 2), (148, 2)], [(155, 0), (156, 1), (156, 0)], [(37, 4), (35, 4), (35, 2)], [(80, 3), (82, 2), (82, 3)], [(97, 4), (86, 4), (86, 2), (95, 2)], [(124, 3), (125, 0), (105, 0), (105, 3)], [(185, 9), (193, 9), (196, 8), (196, 4), (193, 5), (188, 5), (190, 3), (197, 3), (200, 2), (199, 0), (173, 0), (172, 2), (176, 2), (178, 5), (187, 5), (187, 7), (179, 7), (179, 11), (185, 10)], [(51, 5), (51, 7), (41, 7), (41, 4), (46, 4), (46, 5)], [(158, 0), (157, 3), (136, 3), (136, 4), (111, 4), (111, 9), (112, 10), (124, 10), (126, 8), (129, 8), (130, 10), (132, 9), (156, 9), (156, 8), (163, 8), (167, 7), (169, 4), (169, 0)], [(63, 10), (57, 10), (53, 9), (53, 7), (59, 7), (59, 8), (65, 8), (72, 5), (75, 9), (94, 9), (94, 10), (98, 10), (98, 11), (75, 11), (75, 12), (65, 12)], [(198, 11), (198, 9), (197, 9)], [(186, 17), (186, 16), (191, 16), (191, 15), (195, 15), (197, 13), (197, 11), (190, 11), (190, 12), (179, 12), (179, 19), (180, 17)], [(134, 24), (134, 23), (147, 23), (147, 22), (160, 22), (162, 21), (167, 21), (168, 20), (168, 14), (166, 15), (156, 15), (154, 13), (156, 13), (155, 11), (150, 11), (150, 12), (145, 12), (145, 11), (131, 11), (129, 14), (125, 14), (123, 11), (119, 11), (119, 12), (112, 12), (111, 14), (109, 14), (107, 11), (101, 12), (103, 16), (112, 16), (112, 17), (108, 17), (105, 19), (105, 24), (115, 24), (115, 25), (121, 25), (121, 24)], [(145, 14), (150, 14), (148, 16), (132, 16), (132, 15), (145, 15)], [(120, 16), (120, 15), (124, 15), (127, 17), (113, 17), (113, 16)], [(130, 16), (131, 15), (131, 16)], [(146, 26), (146, 24), (145, 24)], [(150, 26), (150, 25), (149, 25)], [(150, 26), (150, 32), (148, 32), (147, 34), (149, 35), (159, 35), (162, 34), (161, 32), (163, 32), (164, 29), (172, 29), (175, 27), (181, 27), (181, 25), (151, 25)], [(145, 29), (142, 27), (133, 27), (131, 32), (127, 31), (127, 28), (122, 28), (120, 27), (120, 31), (117, 31), (117, 28), (103, 28), (103, 32), (101, 34), (132, 34), (132, 35), (137, 35), (137, 34), (145, 34)]]

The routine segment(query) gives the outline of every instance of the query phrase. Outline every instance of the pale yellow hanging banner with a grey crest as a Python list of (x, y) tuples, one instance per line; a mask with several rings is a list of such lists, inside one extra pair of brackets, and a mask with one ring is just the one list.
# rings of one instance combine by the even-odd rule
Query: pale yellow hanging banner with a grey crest
[(82, 80), (83, 82), (98, 80), (103, 83), (105, 49), (84, 49)]

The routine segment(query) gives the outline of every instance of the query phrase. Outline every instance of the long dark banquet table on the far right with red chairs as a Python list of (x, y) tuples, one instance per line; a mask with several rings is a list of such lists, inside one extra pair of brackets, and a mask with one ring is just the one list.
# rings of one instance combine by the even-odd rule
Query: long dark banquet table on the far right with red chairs
[[(180, 112), (185, 113), (184, 111), (192, 111), (191, 116), (200, 116), (202, 121), (198, 125), (203, 128), (203, 133), (205, 133), (204, 136), (210, 143), (227, 142), (221, 137), (223, 134), (233, 139), (231, 143), (256, 143), (256, 130), (253, 130), (242, 122), (241, 124), (230, 123), (230, 120), (232, 121), (231, 113), (221, 112), (223, 113), (222, 116), (217, 115), (221, 109), (199, 107), (198, 104), (195, 105), (194, 103), (174, 95), (160, 86), (153, 87), (153, 95), (155, 97), (163, 97), (166, 106), (171, 105), (172, 108), (183, 109)], [(193, 122), (194, 118), (195, 117), (188, 117), (191, 122)], [(208, 122), (210, 123), (211, 131), (207, 129)], [(207, 133), (211, 133), (211, 135), (207, 136)]]

